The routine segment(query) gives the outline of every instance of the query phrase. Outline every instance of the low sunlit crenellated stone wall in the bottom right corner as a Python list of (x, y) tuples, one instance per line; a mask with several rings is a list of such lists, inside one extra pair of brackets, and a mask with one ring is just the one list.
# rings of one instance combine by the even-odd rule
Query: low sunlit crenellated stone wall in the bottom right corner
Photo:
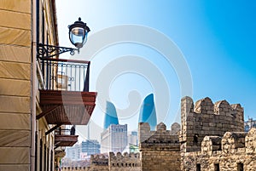
[(201, 151), (187, 152), (182, 156), (182, 170), (195, 170), (201, 164), (202, 170), (213, 170), (218, 163), (219, 170), (237, 170), (237, 163), (243, 163), (245, 170), (255, 170), (256, 128), (245, 132), (226, 132), (223, 136), (206, 136), (201, 142)]

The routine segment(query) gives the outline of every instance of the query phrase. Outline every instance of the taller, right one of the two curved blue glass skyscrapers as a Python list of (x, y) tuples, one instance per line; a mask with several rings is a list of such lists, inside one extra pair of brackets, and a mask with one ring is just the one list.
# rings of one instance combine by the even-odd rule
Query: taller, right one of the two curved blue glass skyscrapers
[(154, 108), (154, 94), (149, 94), (144, 100), (139, 114), (139, 123), (148, 123), (150, 129), (156, 127), (156, 113)]

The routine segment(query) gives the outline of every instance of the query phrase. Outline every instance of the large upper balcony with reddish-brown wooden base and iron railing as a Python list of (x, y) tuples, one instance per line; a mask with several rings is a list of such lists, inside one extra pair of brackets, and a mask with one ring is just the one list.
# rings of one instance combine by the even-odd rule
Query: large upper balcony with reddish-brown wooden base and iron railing
[(90, 62), (38, 59), (42, 112), (49, 124), (86, 125), (95, 108), (96, 92), (89, 92)]

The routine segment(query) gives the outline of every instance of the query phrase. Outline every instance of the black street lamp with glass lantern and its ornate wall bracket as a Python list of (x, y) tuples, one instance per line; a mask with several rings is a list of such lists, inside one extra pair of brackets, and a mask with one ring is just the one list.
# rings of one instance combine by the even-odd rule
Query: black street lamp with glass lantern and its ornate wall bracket
[(86, 23), (81, 21), (79, 17), (78, 21), (75, 21), (72, 25), (68, 26), (69, 28), (69, 40), (76, 48), (66, 48), (53, 46), (44, 43), (37, 44), (37, 53), (38, 58), (50, 58), (59, 54), (63, 54), (66, 52), (70, 52), (71, 55), (77, 50), (79, 53), (79, 49), (84, 46), (84, 43), (87, 41), (87, 35), (90, 31), (90, 28), (86, 26)]

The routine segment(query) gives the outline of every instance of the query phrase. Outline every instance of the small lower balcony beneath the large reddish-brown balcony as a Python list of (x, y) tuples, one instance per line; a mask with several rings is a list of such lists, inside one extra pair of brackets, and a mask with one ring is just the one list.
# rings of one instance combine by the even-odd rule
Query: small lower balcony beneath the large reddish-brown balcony
[(71, 129), (58, 128), (55, 130), (55, 147), (73, 146), (78, 139), (79, 135), (75, 135)]

